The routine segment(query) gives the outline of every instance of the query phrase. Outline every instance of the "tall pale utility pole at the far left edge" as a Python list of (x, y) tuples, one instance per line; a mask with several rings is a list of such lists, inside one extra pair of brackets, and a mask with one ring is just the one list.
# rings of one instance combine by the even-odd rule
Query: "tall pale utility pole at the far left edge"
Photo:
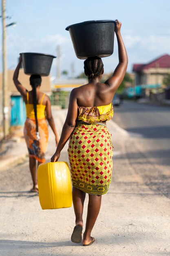
[(9, 133), (9, 94), (7, 81), (7, 26), (5, 14), (6, 0), (2, 0), (2, 111), (3, 111), (3, 135)]

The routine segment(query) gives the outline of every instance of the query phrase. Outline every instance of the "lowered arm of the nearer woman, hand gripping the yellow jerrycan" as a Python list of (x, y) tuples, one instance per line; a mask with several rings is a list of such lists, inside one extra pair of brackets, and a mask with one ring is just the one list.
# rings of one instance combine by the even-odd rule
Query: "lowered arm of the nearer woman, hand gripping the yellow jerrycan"
[(77, 97), (75, 94), (75, 89), (71, 91), (70, 94), (70, 100), (68, 105), (68, 112), (66, 121), (64, 123), (64, 126), (62, 128), (62, 134), (60, 137), (60, 140), (57, 145), (57, 149), (54, 153), (54, 155), (51, 157), (51, 162), (57, 162), (60, 157), (60, 152), (64, 148), (66, 142), (71, 136), (71, 133), (73, 132), (76, 124), (77, 119), (77, 111), (78, 111), (78, 105), (77, 105)]

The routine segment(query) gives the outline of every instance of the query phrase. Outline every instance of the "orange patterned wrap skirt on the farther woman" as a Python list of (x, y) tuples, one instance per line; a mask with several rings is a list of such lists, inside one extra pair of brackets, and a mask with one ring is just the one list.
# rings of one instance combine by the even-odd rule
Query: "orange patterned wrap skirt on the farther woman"
[(46, 119), (38, 119), (38, 132), (40, 134), (39, 140), (36, 138), (35, 119), (27, 118), (24, 124), (24, 137), (29, 151), (29, 157), (33, 157), (38, 162), (44, 163), (49, 137)]

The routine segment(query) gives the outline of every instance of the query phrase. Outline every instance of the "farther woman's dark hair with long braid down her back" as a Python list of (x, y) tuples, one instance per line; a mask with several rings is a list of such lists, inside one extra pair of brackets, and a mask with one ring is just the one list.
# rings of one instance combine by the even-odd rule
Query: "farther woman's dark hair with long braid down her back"
[(31, 75), (30, 76), (30, 84), (33, 88), (33, 106), (34, 106), (34, 113), (35, 113), (35, 123), (36, 123), (36, 136), (37, 136), (37, 140), (40, 139), (40, 135), (38, 132), (38, 119), (37, 119), (37, 91), (36, 88), (38, 87), (38, 85), (41, 85), (41, 76), (39, 75)]

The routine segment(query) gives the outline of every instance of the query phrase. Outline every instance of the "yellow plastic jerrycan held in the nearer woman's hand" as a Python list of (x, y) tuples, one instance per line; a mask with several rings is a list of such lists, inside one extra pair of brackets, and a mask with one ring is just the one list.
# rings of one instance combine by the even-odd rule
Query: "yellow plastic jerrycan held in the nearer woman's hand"
[(43, 210), (71, 207), (72, 186), (67, 162), (38, 166), (38, 193)]

